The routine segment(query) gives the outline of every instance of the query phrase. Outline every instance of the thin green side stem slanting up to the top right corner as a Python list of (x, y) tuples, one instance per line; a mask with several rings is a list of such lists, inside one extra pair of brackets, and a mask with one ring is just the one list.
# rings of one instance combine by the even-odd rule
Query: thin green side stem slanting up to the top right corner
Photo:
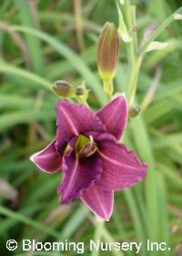
[(159, 26), (157, 27), (157, 30), (152, 34), (151, 37), (148, 38), (146, 44), (141, 48), (139, 51), (139, 56), (143, 56), (145, 54), (145, 51), (148, 47), (148, 45), (153, 42), (169, 25), (174, 21), (174, 15), (175, 14), (182, 14), (182, 6), (177, 9), (176, 12), (174, 12), (171, 16), (168, 16), (167, 19)]

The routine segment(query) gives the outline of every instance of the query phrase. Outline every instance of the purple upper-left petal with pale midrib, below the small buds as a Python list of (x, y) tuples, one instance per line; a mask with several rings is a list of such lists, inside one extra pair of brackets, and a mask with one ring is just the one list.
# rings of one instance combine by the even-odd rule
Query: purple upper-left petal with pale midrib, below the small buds
[(106, 132), (106, 126), (96, 114), (82, 104), (66, 100), (58, 101), (56, 114), (56, 148), (60, 154), (73, 136), (90, 131)]

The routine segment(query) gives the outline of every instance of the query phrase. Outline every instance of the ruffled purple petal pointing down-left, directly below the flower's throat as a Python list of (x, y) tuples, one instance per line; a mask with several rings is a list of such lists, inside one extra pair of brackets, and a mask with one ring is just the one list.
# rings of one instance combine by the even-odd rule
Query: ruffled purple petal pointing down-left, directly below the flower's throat
[(78, 159), (74, 151), (63, 158), (63, 180), (58, 187), (62, 204), (68, 204), (73, 198), (80, 197), (84, 188), (94, 185), (102, 175), (102, 160), (99, 155)]

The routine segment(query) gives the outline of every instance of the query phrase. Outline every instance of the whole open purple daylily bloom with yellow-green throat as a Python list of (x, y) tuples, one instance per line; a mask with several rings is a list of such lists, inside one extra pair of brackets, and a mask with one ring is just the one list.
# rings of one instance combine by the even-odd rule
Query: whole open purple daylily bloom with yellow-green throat
[(114, 191), (132, 187), (146, 176), (147, 164), (117, 143), (127, 122), (124, 95), (98, 112), (66, 100), (56, 105), (56, 136), (44, 150), (31, 156), (39, 169), (62, 169), (58, 195), (62, 204), (80, 198), (102, 219), (113, 212)]

